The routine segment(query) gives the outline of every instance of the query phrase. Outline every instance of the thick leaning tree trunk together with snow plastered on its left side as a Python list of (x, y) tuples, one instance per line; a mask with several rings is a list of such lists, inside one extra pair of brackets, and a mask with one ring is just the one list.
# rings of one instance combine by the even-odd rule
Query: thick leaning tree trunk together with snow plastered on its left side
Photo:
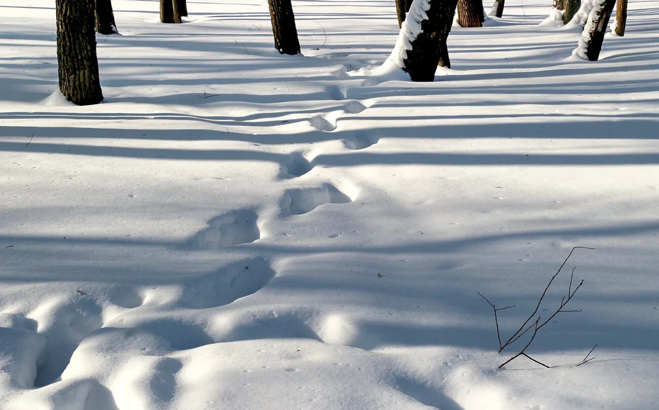
[[(414, 0), (389, 61), (413, 81), (432, 81), (440, 60), (448, 61), (446, 38), (457, 0)], [(442, 57), (444, 55), (444, 57)]]

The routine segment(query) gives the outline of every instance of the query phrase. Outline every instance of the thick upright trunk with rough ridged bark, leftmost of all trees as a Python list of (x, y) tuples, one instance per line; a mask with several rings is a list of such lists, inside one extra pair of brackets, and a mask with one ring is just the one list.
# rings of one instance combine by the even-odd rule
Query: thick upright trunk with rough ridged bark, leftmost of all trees
[(59, 89), (77, 105), (103, 101), (98, 78), (94, 0), (56, 0)]

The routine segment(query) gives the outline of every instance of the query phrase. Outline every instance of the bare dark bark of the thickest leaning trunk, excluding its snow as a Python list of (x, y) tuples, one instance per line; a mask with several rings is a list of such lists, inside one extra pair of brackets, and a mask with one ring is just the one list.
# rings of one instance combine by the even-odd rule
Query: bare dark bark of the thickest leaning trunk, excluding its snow
[(451, 31), (457, 0), (431, 1), (428, 18), (421, 22), (421, 32), (412, 42), (403, 60), (403, 70), (413, 81), (432, 81), (446, 51), (446, 38)]

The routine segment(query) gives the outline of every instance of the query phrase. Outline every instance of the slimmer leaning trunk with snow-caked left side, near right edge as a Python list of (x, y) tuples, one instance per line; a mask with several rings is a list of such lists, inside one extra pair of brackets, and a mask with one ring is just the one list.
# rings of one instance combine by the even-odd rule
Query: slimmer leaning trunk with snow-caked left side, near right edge
[(579, 47), (575, 52), (579, 57), (588, 61), (597, 61), (602, 51), (604, 34), (614, 11), (616, 0), (586, 0), (592, 3), (586, 24), (579, 40)]

